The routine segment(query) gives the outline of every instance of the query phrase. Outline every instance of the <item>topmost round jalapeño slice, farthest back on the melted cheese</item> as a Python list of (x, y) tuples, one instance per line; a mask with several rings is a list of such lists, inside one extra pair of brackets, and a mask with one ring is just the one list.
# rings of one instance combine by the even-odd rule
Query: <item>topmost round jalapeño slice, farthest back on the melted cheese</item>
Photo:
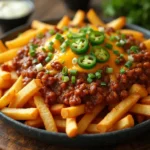
[(99, 45), (104, 42), (105, 35), (102, 32), (99, 31), (93, 31), (89, 35), (89, 40), (92, 45)]

